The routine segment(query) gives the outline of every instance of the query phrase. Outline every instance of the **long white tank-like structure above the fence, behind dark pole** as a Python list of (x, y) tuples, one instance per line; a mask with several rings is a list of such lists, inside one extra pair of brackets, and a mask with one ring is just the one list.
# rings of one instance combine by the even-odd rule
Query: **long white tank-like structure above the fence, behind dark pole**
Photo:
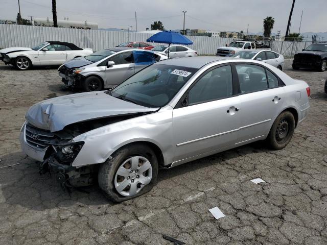
[[(62, 20), (58, 19), (58, 27), (72, 28), (72, 29), (98, 29), (98, 23), (85, 21), (74, 21), (74, 20)], [(37, 18), (32, 17), (33, 26), (41, 27), (53, 27), (53, 19), (48, 18)]]

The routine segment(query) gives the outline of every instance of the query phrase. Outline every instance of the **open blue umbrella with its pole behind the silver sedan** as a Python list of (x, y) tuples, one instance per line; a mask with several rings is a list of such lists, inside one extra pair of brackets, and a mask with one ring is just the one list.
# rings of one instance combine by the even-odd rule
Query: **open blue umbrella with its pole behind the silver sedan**
[(193, 44), (193, 42), (177, 33), (177, 32), (172, 32), (172, 31), (163, 31), (163, 32), (158, 32), (154, 34), (153, 36), (149, 37), (147, 39), (147, 42), (159, 42), (159, 43), (168, 43), (168, 58), (169, 58), (169, 49), (170, 49), (170, 44), (184, 44), (184, 45), (190, 45)]

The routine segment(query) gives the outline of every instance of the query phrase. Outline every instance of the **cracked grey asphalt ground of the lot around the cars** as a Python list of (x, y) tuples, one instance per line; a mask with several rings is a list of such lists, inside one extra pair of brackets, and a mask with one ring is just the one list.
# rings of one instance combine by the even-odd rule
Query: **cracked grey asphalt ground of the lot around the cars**
[[(173, 244), (162, 234), (186, 244), (327, 244), (327, 72), (294, 71), (291, 60), (285, 72), (312, 94), (285, 149), (256, 142), (162, 169), (149, 193), (113, 204), (97, 185), (63, 192), (20, 151), (27, 109), (71, 93), (57, 70), (0, 63), (0, 244)], [(215, 206), (226, 216), (216, 220)]]

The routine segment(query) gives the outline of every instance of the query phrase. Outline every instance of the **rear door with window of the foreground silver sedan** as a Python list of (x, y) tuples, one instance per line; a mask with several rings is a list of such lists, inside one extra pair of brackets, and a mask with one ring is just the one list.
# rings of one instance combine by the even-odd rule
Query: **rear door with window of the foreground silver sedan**
[(241, 127), (236, 144), (243, 144), (269, 132), (272, 121), (282, 109), (285, 90), (276, 75), (263, 66), (237, 63), (236, 70), (241, 91)]

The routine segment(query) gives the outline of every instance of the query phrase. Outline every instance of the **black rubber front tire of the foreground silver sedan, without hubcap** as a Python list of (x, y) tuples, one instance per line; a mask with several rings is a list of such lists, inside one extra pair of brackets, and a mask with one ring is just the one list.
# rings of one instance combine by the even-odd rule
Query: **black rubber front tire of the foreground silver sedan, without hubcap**
[[(133, 156), (143, 156), (149, 160), (152, 167), (152, 178), (151, 182), (139, 190), (138, 193), (132, 197), (126, 197), (119, 194), (116, 190), (114, 185), (114, 178), (121, 164)], [(158, 160), (154, 151), (149, 148), (147, 144), (129, 144), (116, 151), (111, 157), (111, 159), (107, 159), (107, 161), (101, 164), (98, 173), (98, 182), (106, 197), (112, 202), (120, 203), (129, 199), (133, 199), (149, 192), (152, 187), (156, 185), (158, 176)]]

